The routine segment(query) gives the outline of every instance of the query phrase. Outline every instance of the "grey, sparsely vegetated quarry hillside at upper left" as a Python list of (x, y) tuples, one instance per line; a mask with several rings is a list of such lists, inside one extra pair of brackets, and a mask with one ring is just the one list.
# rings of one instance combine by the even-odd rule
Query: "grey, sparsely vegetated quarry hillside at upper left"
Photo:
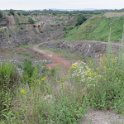
[(0, 47), (14, 47), (63, 38), (64, 27), (72, 25), (69, 15), (25, 15), (12, 11), (0, 18)]

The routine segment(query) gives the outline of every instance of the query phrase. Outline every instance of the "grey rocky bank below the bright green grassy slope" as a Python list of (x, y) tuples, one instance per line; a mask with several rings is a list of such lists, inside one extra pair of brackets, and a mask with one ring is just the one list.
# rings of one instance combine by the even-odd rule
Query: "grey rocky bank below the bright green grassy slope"
[(79, 52), (85, 57), (98, 58), (103, 53), (114, 52), (117, 53), (123, 45), (117, 43), (107, 43), (101, 41), (77, 41), (77, 42), (50, 42), (48, 47), (55, 47), (60, 49), (69, 49), (72, 52)]

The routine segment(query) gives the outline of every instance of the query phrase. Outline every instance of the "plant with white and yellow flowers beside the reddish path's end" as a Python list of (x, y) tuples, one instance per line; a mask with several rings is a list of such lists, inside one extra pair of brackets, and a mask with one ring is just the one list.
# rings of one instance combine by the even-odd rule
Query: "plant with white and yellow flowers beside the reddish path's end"
[(97, 72), (89, 68), (84, 62), (76, 62), (70, 68), (70, 79), (75, 83), (95, 86), (100, 77)]

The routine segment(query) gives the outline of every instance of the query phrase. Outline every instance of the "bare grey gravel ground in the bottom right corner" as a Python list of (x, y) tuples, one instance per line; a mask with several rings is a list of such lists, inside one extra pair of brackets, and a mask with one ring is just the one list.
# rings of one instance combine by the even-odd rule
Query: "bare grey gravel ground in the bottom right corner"
[(90, 110), (81, 124), (124, 124), (124, 116), (110, 111)]

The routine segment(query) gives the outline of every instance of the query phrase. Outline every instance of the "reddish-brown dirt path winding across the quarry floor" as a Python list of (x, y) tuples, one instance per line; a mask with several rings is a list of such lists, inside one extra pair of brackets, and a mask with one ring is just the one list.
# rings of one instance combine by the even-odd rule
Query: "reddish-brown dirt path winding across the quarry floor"
[(64, 68), (68, 69), (71, 66), (70, 61), (64, 59), (63, 57), (57, 55), (56, 53), (53, 53), (53, 52), (48, 51), (48, 50), (41, 50), (39, 48), (39, 46), (42, 45), (42, 44), (43, 43), (33, 46), (32, 50), (34, 52), (37, 52), (37, 53), (41, 54), (44, 58), (49, 59), (49, 60), (52, 61), (52, 63), (47, 64), (48, 68), (61, 66), (61, 67), (64, 67)]

